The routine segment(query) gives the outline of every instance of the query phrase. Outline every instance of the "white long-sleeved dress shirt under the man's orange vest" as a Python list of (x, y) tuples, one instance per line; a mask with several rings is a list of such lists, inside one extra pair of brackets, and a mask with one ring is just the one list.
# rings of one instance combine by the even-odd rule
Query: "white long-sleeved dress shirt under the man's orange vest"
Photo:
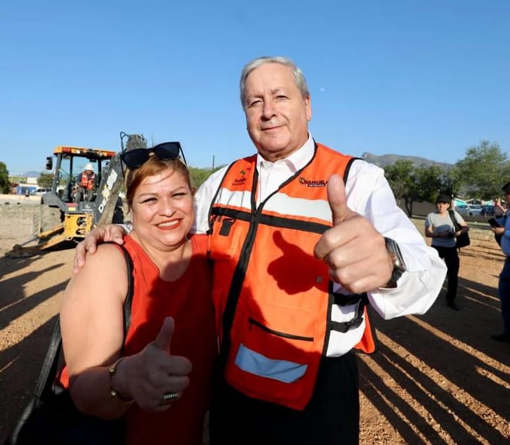
[[(257, 205), (279, 185), (303, 168), (314, 155), (314, 140), (309, 134), (308, 140), (296, 152), (286, 159), (276, 162), (265, 161), (258, 154), (258, 194)], [(205, 233), (209, 224), (207, 215), (214, 194), (226, 172), (221, 168), (213, 173), (198, 189), (196, 194), (196, 231)], [(368, 292), (370, 305), (384, 319), (407, 314), (423, 314), (441, 291), (446, 265), (437, 251), (428, 247), (414, 224), (395, 203), (393, 192), (384, 177), (384, 170), (356, 160), (351, 165), (345, 184), (347, 205), (362, 215), (381, 235), (395, 240), (405, 261), (407, 272), (398, 280), (395, 289), (374, 289)], [(335, 284), (335, 292), (347, 293), (340, 284)], [(332, 319), (348, 321), (356, 312), (356, 305), (333, 305)], [(359, 342), (363, 335), (363, 322), (358, 328), (347, 333), (332, 331), (328, 344), (328, 356), (341, 356)]]

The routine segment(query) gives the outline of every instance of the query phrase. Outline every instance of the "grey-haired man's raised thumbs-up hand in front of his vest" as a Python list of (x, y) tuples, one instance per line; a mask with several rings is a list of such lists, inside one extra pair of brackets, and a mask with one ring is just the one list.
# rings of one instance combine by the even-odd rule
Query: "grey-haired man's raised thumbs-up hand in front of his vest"
[(315, 257), (328, 265), (330, 278), (347, 291), (363, 293), (384, 286), (393, 270), (384, 238), (370, 221), (348, 207), (338, 175), (329, 177), (328, 202), (333, 227), (315, 245)]

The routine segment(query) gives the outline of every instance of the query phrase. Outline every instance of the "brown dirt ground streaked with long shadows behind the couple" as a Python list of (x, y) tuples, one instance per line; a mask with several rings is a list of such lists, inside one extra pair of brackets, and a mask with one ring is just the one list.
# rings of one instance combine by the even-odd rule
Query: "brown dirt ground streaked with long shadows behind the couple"
[[(73, 249), (4, 257), (29, 238), (35, 204), (0, 198), (0, 443), (34, 388), (71, 276)], [(373, 317), (379, 351), (359, 360), (361, 444), (510, 444), (510, 344), (490, 339), (502, 331), (504, 256), (478, 227), (460, 252), (460, 312), (443, 289), (423, 316)]]

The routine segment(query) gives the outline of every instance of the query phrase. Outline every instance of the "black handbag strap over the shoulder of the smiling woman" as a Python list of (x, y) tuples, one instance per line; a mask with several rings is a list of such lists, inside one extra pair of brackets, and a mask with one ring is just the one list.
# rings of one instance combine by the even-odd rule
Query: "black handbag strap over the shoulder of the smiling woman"
[[(128, 251), (122, 245), (118, 245), (122, 249), (124, 253), (124, 258), (126, 258), (126, 267), (127, 267), (127, 275), (128, 275), (128, 290), (126, 293), (126, 300), (124, 301), (124, 342), (126, 341), (126, 335), (129, 330), (129, 325), (131, 324), (131, 303), (133, 302), (133, 292), (134, 292), (134, 278), (133, 278), (133, 261), (131, 260), (131, 256), (129, 256)], [(124, 346), (124, 342), (122, 345)], [(54, 385), (54, 378), (57, 375), (57, 367), (62, 358), (62, 336), (60, 333), (60, 318), (57, 318), (57, 322), (55, 323), (55, 327), (53, 329), (53, 334), (50, 340), (50, 346), (48, 346), (48, 351), (46, 351), (46, 356), (43, 362), (43, 367), (41, 368), (41, 373), (39, 374), (39, 378), (36, 384), (36, 389), (34, 391), (34, 397), (40, 399), (43, 397), (43, 394), (52, 390)]]

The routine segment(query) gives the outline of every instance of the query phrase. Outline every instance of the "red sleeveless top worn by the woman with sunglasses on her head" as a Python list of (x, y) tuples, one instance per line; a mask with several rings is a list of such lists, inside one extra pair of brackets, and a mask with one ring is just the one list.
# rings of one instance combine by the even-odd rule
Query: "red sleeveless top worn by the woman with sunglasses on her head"
[(133, 258), (134, 296), (131, 326), (124, 355), (152, 342), (166, 316), (175, 319), (170, 351), (193, 365), (189, 387), (168, 411), (152, 413), (133, 404), (127, 413), (128, 444), (201, 445), (203, 421), (209, 407), (211, 374), (217, 340), (211, 300), (211, 270), (207, 263), (207, 235), (191, 237), (193, 256), (184, 275), (165, 282), (145, 251), (129, 236), (125, 247)]

